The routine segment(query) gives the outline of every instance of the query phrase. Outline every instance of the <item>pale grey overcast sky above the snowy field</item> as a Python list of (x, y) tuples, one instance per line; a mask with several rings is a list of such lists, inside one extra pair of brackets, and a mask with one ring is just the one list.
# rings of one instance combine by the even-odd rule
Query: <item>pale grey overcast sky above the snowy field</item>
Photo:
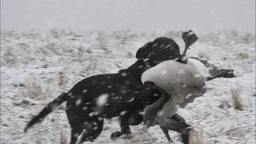
[(255, 0), (1, 0), (2, 28), (255, 33)]

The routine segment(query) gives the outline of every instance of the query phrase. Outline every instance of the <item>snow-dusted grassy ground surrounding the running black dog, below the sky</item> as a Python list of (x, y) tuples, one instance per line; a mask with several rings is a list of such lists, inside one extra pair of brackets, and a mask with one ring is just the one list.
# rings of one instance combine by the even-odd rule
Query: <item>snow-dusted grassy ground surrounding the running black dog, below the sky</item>
[[(136, 61), (136, 50), (158, 36), (174, 38), (184, 47), (178, 31), (134, 33), (130, 30), (102, 31), (50, 30), (1, 31), (1, 143), (60, 143), (63, 132), (70, 141), (70, 127), (62, 105), (45, 120), (23, 133), (33, 114), (46, 103), (92, 74), (114, 73)], [(207, 82), (211, 88), (179, 109), (203, 143), (255, 143), (255, 36), (236, 30), (198, 34), (190, 56), (206, 58), (222, 68), (235, 70), (238, 78), (218, 78)], [(64, 74), (64, 77), (60, 76)], [(64, 78), (64, 81), (62, 79)], [(60, 86), (61, 85), (61, 86)], [(242, 110), (234, 108), (231, 90), (240, 91)], [(92, 143), (167, 143), (158, 126), (141, 133), (142, 125), (132, 126), (132, 137), (115, 141), (110, 134), (119, 130), (117, 122), (106, 122), (102, 134)], [(170, 131), (177, 143), (179, 134)], [(90, 142), (85, 142), (90, 143)]]

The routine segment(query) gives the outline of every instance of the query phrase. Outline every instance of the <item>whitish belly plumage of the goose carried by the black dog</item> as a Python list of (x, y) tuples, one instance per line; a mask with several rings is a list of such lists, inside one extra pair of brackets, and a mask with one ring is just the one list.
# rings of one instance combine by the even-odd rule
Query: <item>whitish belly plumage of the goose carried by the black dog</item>
[(203, 86), (208, 74), (206, 66), (196, 59), (189, 58), (186, 64), (168, 60), (146, 70), (142, 74), (142, 83), (154, 82), (180, 103), (186, 97), (180, 92), (186, 90), (186, 86)]

